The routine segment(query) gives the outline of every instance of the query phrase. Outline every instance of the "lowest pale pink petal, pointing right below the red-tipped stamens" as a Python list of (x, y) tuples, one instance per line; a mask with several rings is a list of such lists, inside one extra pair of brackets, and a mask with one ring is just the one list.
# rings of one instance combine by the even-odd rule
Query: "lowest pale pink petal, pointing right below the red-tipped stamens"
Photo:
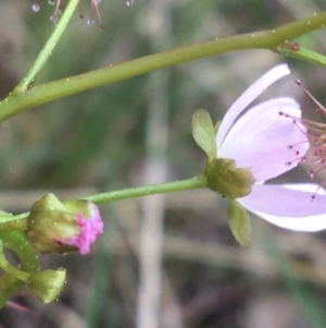
[(238, 202), (266, 221), (290, 230), (326, 229), (326, 194), (315, 184), (255, 185)]

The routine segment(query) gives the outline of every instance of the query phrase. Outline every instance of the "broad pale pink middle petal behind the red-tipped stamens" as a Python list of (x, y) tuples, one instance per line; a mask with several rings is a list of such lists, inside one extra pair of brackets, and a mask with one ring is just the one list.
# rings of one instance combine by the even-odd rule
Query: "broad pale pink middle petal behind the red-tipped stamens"
[(279, 111), (301, 117), (299, 105), (291, 98), (260, 104), (236, 122), (218, 149), (218, 156), (235, 159), (238, 168), (251, 168), (256, 182), (296, 167), (297, 158), (304, 156), (309, 148), (309, 143), (304, 142), (305, 127), (299, 129), (299, 122), (294, 124), (292, 119), (279, 116)]

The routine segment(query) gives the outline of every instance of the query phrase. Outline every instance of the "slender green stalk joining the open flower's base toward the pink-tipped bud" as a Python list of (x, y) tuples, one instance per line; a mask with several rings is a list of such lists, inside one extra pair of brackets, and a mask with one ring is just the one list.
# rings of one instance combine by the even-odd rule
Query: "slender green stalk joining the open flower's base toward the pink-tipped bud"
[(181, 181), (174, 181), (168, 183), (151, 184), (145, 186), (130, 187), (122, 191), (102, 193), (91, 196), (82, 197), (95, 204), (109, 203), (126, 198), (135, 198), (141, 196), (149, 196), (154, 194), (164, 194), (179, 191), (187, 191), (192, 189), (206, 187), (206, 179), (204, 175), (198, 175)]

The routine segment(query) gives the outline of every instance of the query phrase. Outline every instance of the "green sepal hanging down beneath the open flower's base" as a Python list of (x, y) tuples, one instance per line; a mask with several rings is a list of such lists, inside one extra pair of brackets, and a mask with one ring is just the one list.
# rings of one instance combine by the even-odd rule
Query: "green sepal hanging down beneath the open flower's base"
[(227, 210), (228, 226), (241, 246), (251, 244), (251, 224), (247, 210), (237, 202), (231, 201)]

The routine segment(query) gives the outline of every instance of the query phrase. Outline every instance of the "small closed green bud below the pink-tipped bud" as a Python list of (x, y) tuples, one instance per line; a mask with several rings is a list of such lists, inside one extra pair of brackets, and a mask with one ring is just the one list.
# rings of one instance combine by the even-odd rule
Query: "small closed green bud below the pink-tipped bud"
[(43, 270), (32, 275), (28, 287), (32, 293), (43, 303), (55, 301), (61, 294), (66, 282), (66, 270)]

